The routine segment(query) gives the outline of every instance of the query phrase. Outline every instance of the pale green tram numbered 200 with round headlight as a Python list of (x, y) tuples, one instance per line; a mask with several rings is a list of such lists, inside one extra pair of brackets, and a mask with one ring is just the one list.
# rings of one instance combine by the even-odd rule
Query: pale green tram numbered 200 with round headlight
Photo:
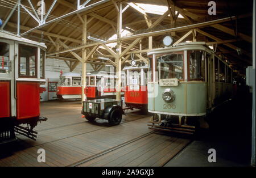
[(181, 43), (147, 55), (152, 129), (193, 134), (196, 126), (208, 128), (208, 113), (232, 98), (232, 69), (205, 43)]

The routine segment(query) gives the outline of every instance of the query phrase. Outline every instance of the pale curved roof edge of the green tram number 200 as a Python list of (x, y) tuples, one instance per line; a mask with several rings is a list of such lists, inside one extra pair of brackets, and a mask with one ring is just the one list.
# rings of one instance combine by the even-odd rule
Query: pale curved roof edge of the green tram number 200
[(214, 53), (212, 49), (210, 49), (205, 42), (191, 42), (191, 43), (179, 43), (175, 46), (170, 46), (166, 48), (158, 48), (158, 49), (152, 49), (149, 52), (147, 52), (147, 55), (151, 54), (160, 54), (160, 53), (166, 53), (166, 52), (178, 52), (182, 50), (205, 50), (208, 53)]

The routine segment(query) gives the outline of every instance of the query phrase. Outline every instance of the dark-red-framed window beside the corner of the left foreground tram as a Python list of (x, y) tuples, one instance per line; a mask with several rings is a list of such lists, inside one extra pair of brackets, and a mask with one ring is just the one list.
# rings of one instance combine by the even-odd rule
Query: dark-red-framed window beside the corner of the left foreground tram
[(36, 78), (38, 48), (19, 45), (19, 77)]

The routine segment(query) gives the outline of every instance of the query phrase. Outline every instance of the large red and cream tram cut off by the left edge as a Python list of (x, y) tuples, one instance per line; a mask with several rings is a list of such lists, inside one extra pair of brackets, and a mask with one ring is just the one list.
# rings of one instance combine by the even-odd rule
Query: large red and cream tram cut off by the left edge
[[(46, 45), (0, 31), (0, 143), (23, 134), (35, 139), (40, 117), (40, 83), (44, 79)], [(25, 128), (20, 126), (27, 124)]]

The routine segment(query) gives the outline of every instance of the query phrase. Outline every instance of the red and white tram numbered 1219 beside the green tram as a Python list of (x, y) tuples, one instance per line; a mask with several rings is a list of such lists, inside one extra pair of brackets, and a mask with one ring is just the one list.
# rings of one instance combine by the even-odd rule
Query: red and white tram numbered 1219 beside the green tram
[(125, 104), (127, 107), (147, 110), (147, 72), (145, 63), (124, 67), (127, 76)]

